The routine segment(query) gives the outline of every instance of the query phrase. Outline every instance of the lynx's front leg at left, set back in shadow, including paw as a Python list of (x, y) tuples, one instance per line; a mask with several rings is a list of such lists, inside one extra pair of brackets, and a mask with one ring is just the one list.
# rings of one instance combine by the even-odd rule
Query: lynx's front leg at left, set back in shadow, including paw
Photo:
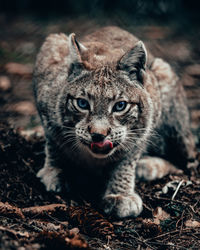
[(60, 192), (62, 189), (61, 181), (59, 175), (61, 174), (61, 169), (56, 168), (55, 160), (52, 157), (53, 149), (49, 144), (46, 143), (45, 147), (45, 164), (42, 169), (37, 173), (37, 177), (41, 179), (41, 182), (45, 185), (47, 191)]

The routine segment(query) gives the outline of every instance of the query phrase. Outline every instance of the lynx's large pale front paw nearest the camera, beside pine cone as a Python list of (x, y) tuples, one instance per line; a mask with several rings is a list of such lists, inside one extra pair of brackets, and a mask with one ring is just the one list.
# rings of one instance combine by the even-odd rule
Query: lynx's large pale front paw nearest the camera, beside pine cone
[(103, 198), (103, 206), (106, 214), (113, 214), (118, 218), (136, 217), (142, 212), (142, 199), (136, 193), (129, 196), (109, 194)]

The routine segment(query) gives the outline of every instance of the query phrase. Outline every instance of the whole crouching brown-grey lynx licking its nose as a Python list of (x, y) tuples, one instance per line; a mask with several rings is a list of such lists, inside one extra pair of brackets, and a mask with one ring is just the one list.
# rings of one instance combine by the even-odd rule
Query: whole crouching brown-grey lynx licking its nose
[(36, 61), (34, 93), (46, 136), (37, 176), (48, 191), (138, 216), (135, 177), (161, 178), (195, 162), (184, 91), (170, 65), (118, 27), (52, 34)]

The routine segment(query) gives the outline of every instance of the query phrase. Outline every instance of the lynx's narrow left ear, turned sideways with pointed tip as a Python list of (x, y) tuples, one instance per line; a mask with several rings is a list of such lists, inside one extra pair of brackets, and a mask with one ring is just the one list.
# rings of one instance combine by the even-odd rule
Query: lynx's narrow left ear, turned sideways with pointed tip
[(74, 33), (69, 35), (69, 72), (68, 76), (79, 75), (84, 69), (83, 62), (81, 59), (81, 53), (87, 50), (85, 46), (78, 43)]

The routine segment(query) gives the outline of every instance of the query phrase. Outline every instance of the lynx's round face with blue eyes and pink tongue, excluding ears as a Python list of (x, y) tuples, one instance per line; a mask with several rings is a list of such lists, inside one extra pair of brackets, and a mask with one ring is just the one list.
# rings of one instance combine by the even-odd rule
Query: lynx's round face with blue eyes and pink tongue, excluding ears
[(124, 73), (109, 67), (82, 73), (68, 83), (63, 107), (65, 140), (95, 158), (139, 147), (148, 130), (148, 97)]

